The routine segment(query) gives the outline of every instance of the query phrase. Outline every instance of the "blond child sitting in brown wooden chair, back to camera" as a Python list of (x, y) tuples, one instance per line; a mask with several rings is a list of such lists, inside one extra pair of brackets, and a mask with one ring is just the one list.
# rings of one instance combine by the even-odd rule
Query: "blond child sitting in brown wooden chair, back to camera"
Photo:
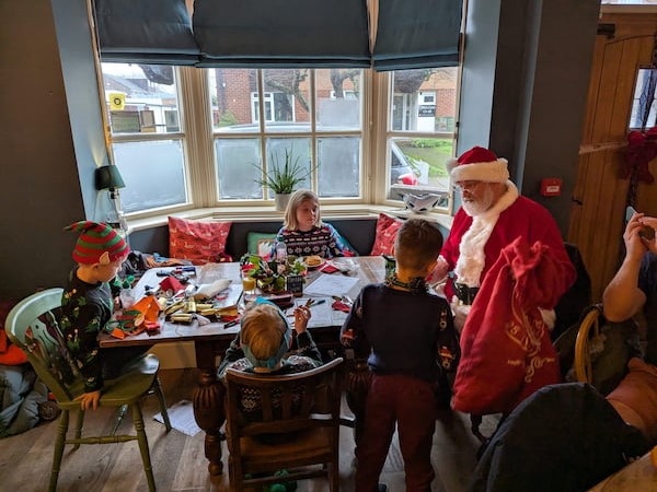
[[(322, 365), (322, 356), (307, 326), (310, 308), (295, 308), (295, 331), (298, 350), (284, 359), (292, 342), (292, 330), (285, 314), (274, 303), (257, 297), (242, 316), (241, 329), (230, 343), (226, 355), (217, 368), (217, 377), (223, 382), (226, 371), (295, 374)], [(260, 395), (244, 394), (240, 411), (252, 414), (257, 420)]]

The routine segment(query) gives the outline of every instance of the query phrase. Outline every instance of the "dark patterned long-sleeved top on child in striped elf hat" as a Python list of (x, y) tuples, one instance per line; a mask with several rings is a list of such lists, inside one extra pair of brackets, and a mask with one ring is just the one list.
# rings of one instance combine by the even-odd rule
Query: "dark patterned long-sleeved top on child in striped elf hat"
[(103, 387), (103, 361), (99, 354), (97, 335), (112, 316), (113, 297), (110, 284), (83, 282), (77, 268), (61, 297), (59, 327), (67, 348), (84, 376), (84, 391)]

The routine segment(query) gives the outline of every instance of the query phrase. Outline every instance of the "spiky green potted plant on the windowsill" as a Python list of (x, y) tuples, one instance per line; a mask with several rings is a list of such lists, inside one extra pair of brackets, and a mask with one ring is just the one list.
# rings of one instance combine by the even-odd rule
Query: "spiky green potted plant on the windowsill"
[[(256, 166), (258, 167), (258, 166)], [(258, 167), (263, 172), (262, 167)], [(274, 192), (276, 210), (285, 210), (290, 195), (299, 183), (303, 183), (311, 174), (312, 168), (306, 169), (299, 164), (299, 156), (293, 156), (291, 149), (285, 150), (285, 159), (281, 163), (277, 154), (272, 153), (269, 166), (264, 177), (255, 181), (266, 186)]]

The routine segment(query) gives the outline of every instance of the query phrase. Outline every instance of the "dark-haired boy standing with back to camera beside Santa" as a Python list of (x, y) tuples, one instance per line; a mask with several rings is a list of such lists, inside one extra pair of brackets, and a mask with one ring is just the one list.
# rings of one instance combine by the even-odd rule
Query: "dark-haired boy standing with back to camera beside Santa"
[(395, 422), (406, 491), (431, 490), (437, 384), (456, 371), (460, 353), (449, 304), (425, 283), (441, 247), (442, 236), (429, 222), (405, 221), (394, 245), (395, 272), (365, 286), (343, 325), (343, 344), (369, 354), (372, 376), (356, 443), (359, 492), (384, 490), (378, 480)]

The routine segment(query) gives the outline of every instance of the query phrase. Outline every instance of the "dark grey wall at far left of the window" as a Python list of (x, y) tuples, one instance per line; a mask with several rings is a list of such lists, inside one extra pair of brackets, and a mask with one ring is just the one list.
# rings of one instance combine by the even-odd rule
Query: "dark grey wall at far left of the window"
[(1, 1), (0, 297), (61, 285), (84, 219), (48, 0)]

